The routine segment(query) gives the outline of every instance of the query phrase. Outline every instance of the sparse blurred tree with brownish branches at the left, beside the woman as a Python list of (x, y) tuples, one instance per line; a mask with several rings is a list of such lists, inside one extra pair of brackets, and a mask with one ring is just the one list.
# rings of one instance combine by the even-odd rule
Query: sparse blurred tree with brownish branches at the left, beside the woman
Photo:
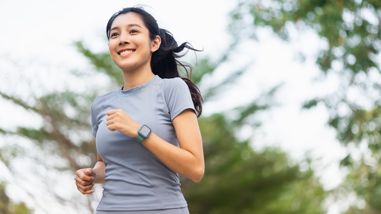
[[(13, 140), (9, 140), (8, 137), (8, 143), (1, 144), (0, 161), (14, 173), (15, 178), (23, 180), (24, 172), (20, 174), (13, 165), (14, 159), (22, 158), (30, 164), (28, 170), (39, 176), (36, 184), (32, 186), (44, 189), (43, 195), (49, 199), (56, 198), (67, 207), (83, 209), (83, 200), (78, 200), (76, 196), (67, 197), (67, 189), (70, 187), (63, 187), (66, 189), (66, 193), (63, 193), (58, 191), (59, 187), (56, 186), (61, 177), (59, 175), (70, 174), (70, 177), (74, 178), (73, 172), (92, 166), (96, 161), (95, 141), (88, 133), (91, 129), (88, 107), (97, 90), (85, 90), (81, 93), (71, 90), (47, 91), (39, 97), (33, 94), (33, 91), (33, 88), (30, 88), (30, 94), (26, 99), (15, 91), (0, 91), (0, 97), (16, 107), (21, 107), (20, 113), (24, 110), (36, 121), (31, 126), (0, 127), (0, 134), (13, 137)], [(32, 146), (28, 148), (20, 139), (32, 142)], [(52, 180), (52, 177), (55, 179)], [(72, 184), (74, 185), (74, 180)], [(75, 185), (72, 188), (74, 190)], [(53, 189), (55, 191), (49, 191)], [(32, 196), (36, 194), (33, 190), (24, 191)], [(91, 201), (96, 197), (92, 194), (87, 197), (87, 208), (94, 213)], [(36, 199), (36, 203), (38, 206), (39, 203), (43, 203), (43, 199)]]

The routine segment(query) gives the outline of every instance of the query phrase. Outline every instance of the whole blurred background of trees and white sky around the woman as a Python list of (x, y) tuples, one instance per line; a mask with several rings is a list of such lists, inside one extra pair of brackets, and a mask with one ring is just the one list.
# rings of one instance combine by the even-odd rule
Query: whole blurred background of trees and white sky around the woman
[(381, 213), (379, 0), (0, 0), (0, 214), (91, 214), (92, 100), (123, 86), (106, 23), (144, 6), (204, 98), (192, 214)]

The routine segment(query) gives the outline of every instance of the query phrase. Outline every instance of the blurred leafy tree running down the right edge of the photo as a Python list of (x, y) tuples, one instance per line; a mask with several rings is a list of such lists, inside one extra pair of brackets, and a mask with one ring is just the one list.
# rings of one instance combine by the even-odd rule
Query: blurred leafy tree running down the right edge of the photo
[[(264, 27), (286, 41), (294, 29), (325, 41), (316, 63), (323, 75), (338, 77), (339, 88), (304, 107), (323, 103), (328, 124), (349, 148), (341, 165), (350, 172), (338, 192), (354, 191), (359, 201), (348, 213), (381, 213), (380, 7), (380, 0), (241, 0), (232, 12), (236, 43)], [(358, 158), (360, 148), (367, 149)]]

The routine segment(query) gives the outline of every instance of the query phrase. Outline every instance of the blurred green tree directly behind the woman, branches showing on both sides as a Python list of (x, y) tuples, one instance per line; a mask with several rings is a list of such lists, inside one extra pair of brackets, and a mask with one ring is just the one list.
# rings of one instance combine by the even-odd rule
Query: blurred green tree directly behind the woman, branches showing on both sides
[[(108, 53), (94, 54), (82, 43), (77, 45), (80, 52), (96, 65), (97, 70), (115, 78), (115, 83), (124, 84), (119, 69), (110, 63)], [(215, 72), (217, 65), (227, 59), (226, 55), (221, 56), (216, 63), (211, 63), (208, 58), (201, 59), (194, 66), (192, 81), (200, 85), (204, 76)], [(220, 95), (224, 86), (235, 83), (243, 72), (243, 69), (231, 71), (218, 86), (206, 87), (203, 91), (204, 101), (208, 102)], [(258, 126), (251, 116), (271, 107), (271, 103), (264, 100), (271, 100), (276, 89), (262, 94), (247, 106), (233, 109), (238, 115), (233, 119), (227, 119), (228, 112), (199, 119), (206, 172), (199, 183), (181, 178), (182, 191), (191, 213), (324, 213), (322, 202), (325, 191), (314, 176), (310, 160), (305, 160), (308, 169), (301, 171), (300, 166), (292, 164), (287, 154), (279, 149), (267, 148), (255, 152), (249, 139), (240, 141), (235, 137), (236, 131), (245, 125), (253, 129)]]

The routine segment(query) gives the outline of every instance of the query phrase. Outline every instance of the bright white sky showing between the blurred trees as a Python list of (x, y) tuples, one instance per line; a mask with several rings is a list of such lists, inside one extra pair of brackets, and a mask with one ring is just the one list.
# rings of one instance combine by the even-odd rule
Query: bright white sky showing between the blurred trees
[[(136, 4), (152, 7), (148, 11), (159, 26), (172, 32), (177, 41), (190, 41), (194, 47), (204, 48), (199, 57), (215, 57), (223, 51), (231, 51), (227, 49), (231, 38), (226, 28), (228, 12), (233, 9), (234, 1), (0, 0), (0, 75), (15, 79), (14, 74), (6, 70), (9, 60), (21, 64), (36, 61), (63, 69), (88, 68), (73, 42), (81, 40), (95, 51), (107, 50), (105, 28), (109, 17), (123, 7)], [(249, 72), (221, 99), (205, 105), (205, 114), (247, 103), (264, 90), (283, 83), (275, 97), (278, 106), (258, 115), (263, 125), (255, 130), (253, 146), (257, 149), (279, 146), (296, 160), (308, 152), (314, 158), (322, 157), (316, 166), (317, 173), (325, 187), (331, 189), (342, 178), (338, 161), (346, 151), (335, 140), (334, 131), (326, 127), (328, 115), (323, 107), (300, 110), (303, 101), (333, 91), (337, 86), (335, 77), (326, 84), (311, 82), (319, 74), (314, 56), (324, 44), (312, 32), (296, 34), (290, 44), (275, 39), (267, 31), (259, 35), (259, 42), (245, 42), (239, 46), (232, 59), (235, 64), (227, 64), (217, 76), (209, 79), (211, 84), (215, 84), (234, 67), (248, 62), (252, 64)], [(296, 51), (307, 54), (305, 63), (296, 60)], [(48, 88), (60, 88), (69, 82), (62, 82), (64, 73), (36, 70), (38, 66), (33, 69), (23, 67), (22, 74), (15, 75), (28, 80), (49, 79), (51, 85), (47, 83)], [(0, 85), (4, 80), (0, 77)], [(0, 114), (0, 125), (25, 122), (25, 118), (9, 118), (9, 111), (17, 113), (17, 109), (6, 105), (1, 108), (7, 108), (7, 113)], [(249, 136), (252, 131), (247, 128), (242, 135)], [(74, 182), (71, 183), (72, 186), (66, 188), (75, 190)], [(339, 205), (331, 206), (329, 213), (339, 213)], [(44, 214), (44, 211), (36, 208), (36, 214)]]

